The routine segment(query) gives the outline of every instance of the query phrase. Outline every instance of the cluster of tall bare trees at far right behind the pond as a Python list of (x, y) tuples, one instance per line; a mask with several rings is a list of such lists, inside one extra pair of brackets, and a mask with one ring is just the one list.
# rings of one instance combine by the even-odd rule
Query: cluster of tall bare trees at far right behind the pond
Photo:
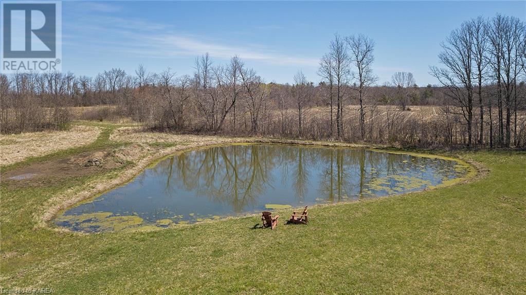
[[(489, 111), (490, 146), (517, 145), (518, 109), (524, 94), (526, 27), (519, 18), (497, 15), (478, 17), (464, 22), (441, 44), (442, 67), (431, 67), (431, 73), (447, 88), (446, 94), (460, 108), (447, 109), (460, 115), (467, 125), (468, 146), (484, 141), (484, 125), (479, 124), (478, 138), (473, 138), (474, 100), (478, 100), (479, 120), (484, 122), (484, 107), (497, 106), (497, 136), (494, 143), (492, 112)], [(487, 86), (487, 87), (484, 87)], [(513, 134), (512, 134), (513, 115)]]

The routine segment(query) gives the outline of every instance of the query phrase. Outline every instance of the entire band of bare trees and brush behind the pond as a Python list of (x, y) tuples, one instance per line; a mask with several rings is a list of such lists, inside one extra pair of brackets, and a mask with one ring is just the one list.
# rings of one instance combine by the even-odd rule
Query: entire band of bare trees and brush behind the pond
[(197, 134), (521, 147), (525, 36), (524, 22), (514, 17), (462, 23), (442, 43), (441, 65), (430, 67), (440, 85), (424, 87), (408, 72), (378, 85), (375, 42), (338, 34), (320, 59), (317, 84), (301, 71), (292, 84), (266, 83), (241, 58), (219, 64), (208, 54), (196, 59), (193, 75), (152, 73), (143, 65), (132, 75), (112, 68), (94, 78), (0, 75), (0, 131), (61, 128), (78, 118), (73, 106), (108, 106), (80, 118), (129, 117), (149, 130)]

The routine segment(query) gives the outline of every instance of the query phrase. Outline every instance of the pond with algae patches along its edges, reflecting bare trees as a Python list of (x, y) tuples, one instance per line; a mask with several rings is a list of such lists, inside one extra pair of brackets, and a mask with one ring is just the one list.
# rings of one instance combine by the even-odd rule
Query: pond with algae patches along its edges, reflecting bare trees
[(181, 152), (60, 213), (74, 231), (170, 227), (265, 210), (377, 198), (447, 185), (470, 166), (368, 149), (247, 144)]

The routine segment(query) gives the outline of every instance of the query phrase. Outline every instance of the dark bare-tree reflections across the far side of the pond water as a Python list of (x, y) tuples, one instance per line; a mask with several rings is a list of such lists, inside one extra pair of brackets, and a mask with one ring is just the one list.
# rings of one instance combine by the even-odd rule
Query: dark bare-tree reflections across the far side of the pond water
[[(318, 178), (318, 199), (328, 202), (372, 197), (368, 189), (372, 179), (400, 171), (410, 169), (413, 176), (426, 177), (418, 169), (422, 165), (411, 169), (406, 158), (414, 157), (365, 149), (231, 145), (185, 152), (159, 165), (156, 172), (166, 176), (168, 194), (176, 194), (180, 188), (193, 190), (198, 197), (226, 202), (235, 212), (242, 212), (257, 204), (258, 196), (265, 195), (266, 189), (275, 185), (292, 184), (294, 194), (290, 191), (290, 195), (294, 195), (296, 202), (305, 201), (309, 182), (315, 180), (311, 179), (312, 172)], [(423, 164), (432, 160), (417, 159)], [(276, 168), (278, 173), (273, 171)], [(279, 182), (275, 182), (277, 176)]]

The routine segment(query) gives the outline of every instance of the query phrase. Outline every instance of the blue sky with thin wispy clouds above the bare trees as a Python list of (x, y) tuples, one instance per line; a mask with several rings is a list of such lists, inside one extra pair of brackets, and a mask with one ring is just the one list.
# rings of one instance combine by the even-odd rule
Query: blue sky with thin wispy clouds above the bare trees
[(376, 42), (379, 84), (412, 72), (435, 84), (440, 42), (463, 21), (497, 13), (526, 17), (515, 2), (63, 2), (63, 71), (94, 76), (139, 64), (193, 72), (209, 52), (215, 63), (237, 54), (266, 82), (291, 83), (302, 70), (318, 82), (319, 58), (335, 33), (366, 34)]

